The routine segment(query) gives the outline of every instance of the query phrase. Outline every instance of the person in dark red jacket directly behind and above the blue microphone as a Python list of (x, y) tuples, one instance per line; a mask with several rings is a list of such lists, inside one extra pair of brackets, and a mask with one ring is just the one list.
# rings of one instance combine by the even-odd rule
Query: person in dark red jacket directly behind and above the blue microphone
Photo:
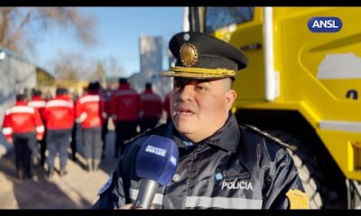
[(115, 155), (123, 152), (125, 140), (137, 134), (138, 117), (140, 110), (139, 94), (129, 85), (126, 78), (119, 78), (119, 87), (112, 95), (112, 119), (116, 124)]

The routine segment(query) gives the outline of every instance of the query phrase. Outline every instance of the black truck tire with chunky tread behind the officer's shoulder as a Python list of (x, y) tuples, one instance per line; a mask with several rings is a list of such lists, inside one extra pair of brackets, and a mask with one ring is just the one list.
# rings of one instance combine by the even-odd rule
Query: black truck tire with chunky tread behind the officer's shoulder
[(301, 139), (281, 130), (265, 130), (273, 137), (281, 139), (290, 145), (288, 149), (299, 172), (303, 187), (310, 199), (311, 209), (339, 209), (346, 208), (338, 192), (330, 189), (326, 182), (326, 175), (319, 167), (317, 154), (312, 154)]

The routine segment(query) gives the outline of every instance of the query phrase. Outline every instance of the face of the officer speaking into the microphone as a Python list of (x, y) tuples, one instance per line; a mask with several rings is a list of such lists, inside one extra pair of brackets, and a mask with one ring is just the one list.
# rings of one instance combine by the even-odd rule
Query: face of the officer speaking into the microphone
[(227, 121), (236, 99), (229, 78), (174, 78), (171, 117), (175, 128), (193, 142), (206, 139)]

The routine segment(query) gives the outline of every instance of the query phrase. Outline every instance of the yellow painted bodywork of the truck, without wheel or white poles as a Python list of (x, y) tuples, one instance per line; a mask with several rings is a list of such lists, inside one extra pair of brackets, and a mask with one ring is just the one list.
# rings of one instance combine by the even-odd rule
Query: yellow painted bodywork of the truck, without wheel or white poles
[[(312, 17), (338, 17), (341, 31), (310, 31)], [(236, 109), (298, 111), (316, 130), (338, 166), (349, 178), (361, 179), (361, 153), (352, 143), (361, 133), (320, 130), (319, 121), (361, 122), (361, 7), (273, 8), (274, 69), (280, 75), (280, 96), (264, 100), (263, 49), (245, 51), (249, 67), (234, 85)], [(225, 27), (215, 35), (236, 48), (263, 43), (262, 8), (255, 20)], [(233, 109), (235, 110), (235, 109)]]

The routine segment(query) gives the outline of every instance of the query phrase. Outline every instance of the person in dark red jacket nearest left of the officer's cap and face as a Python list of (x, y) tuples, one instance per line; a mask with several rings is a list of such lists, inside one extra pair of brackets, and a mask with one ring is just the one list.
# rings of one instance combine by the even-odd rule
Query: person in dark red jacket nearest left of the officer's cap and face
[(139, 112), (141, 132), (153, 129), (162, 116), (162, 100), (152, 89), (152, 83), (146, 83), (141, 96), (141, 110)]

